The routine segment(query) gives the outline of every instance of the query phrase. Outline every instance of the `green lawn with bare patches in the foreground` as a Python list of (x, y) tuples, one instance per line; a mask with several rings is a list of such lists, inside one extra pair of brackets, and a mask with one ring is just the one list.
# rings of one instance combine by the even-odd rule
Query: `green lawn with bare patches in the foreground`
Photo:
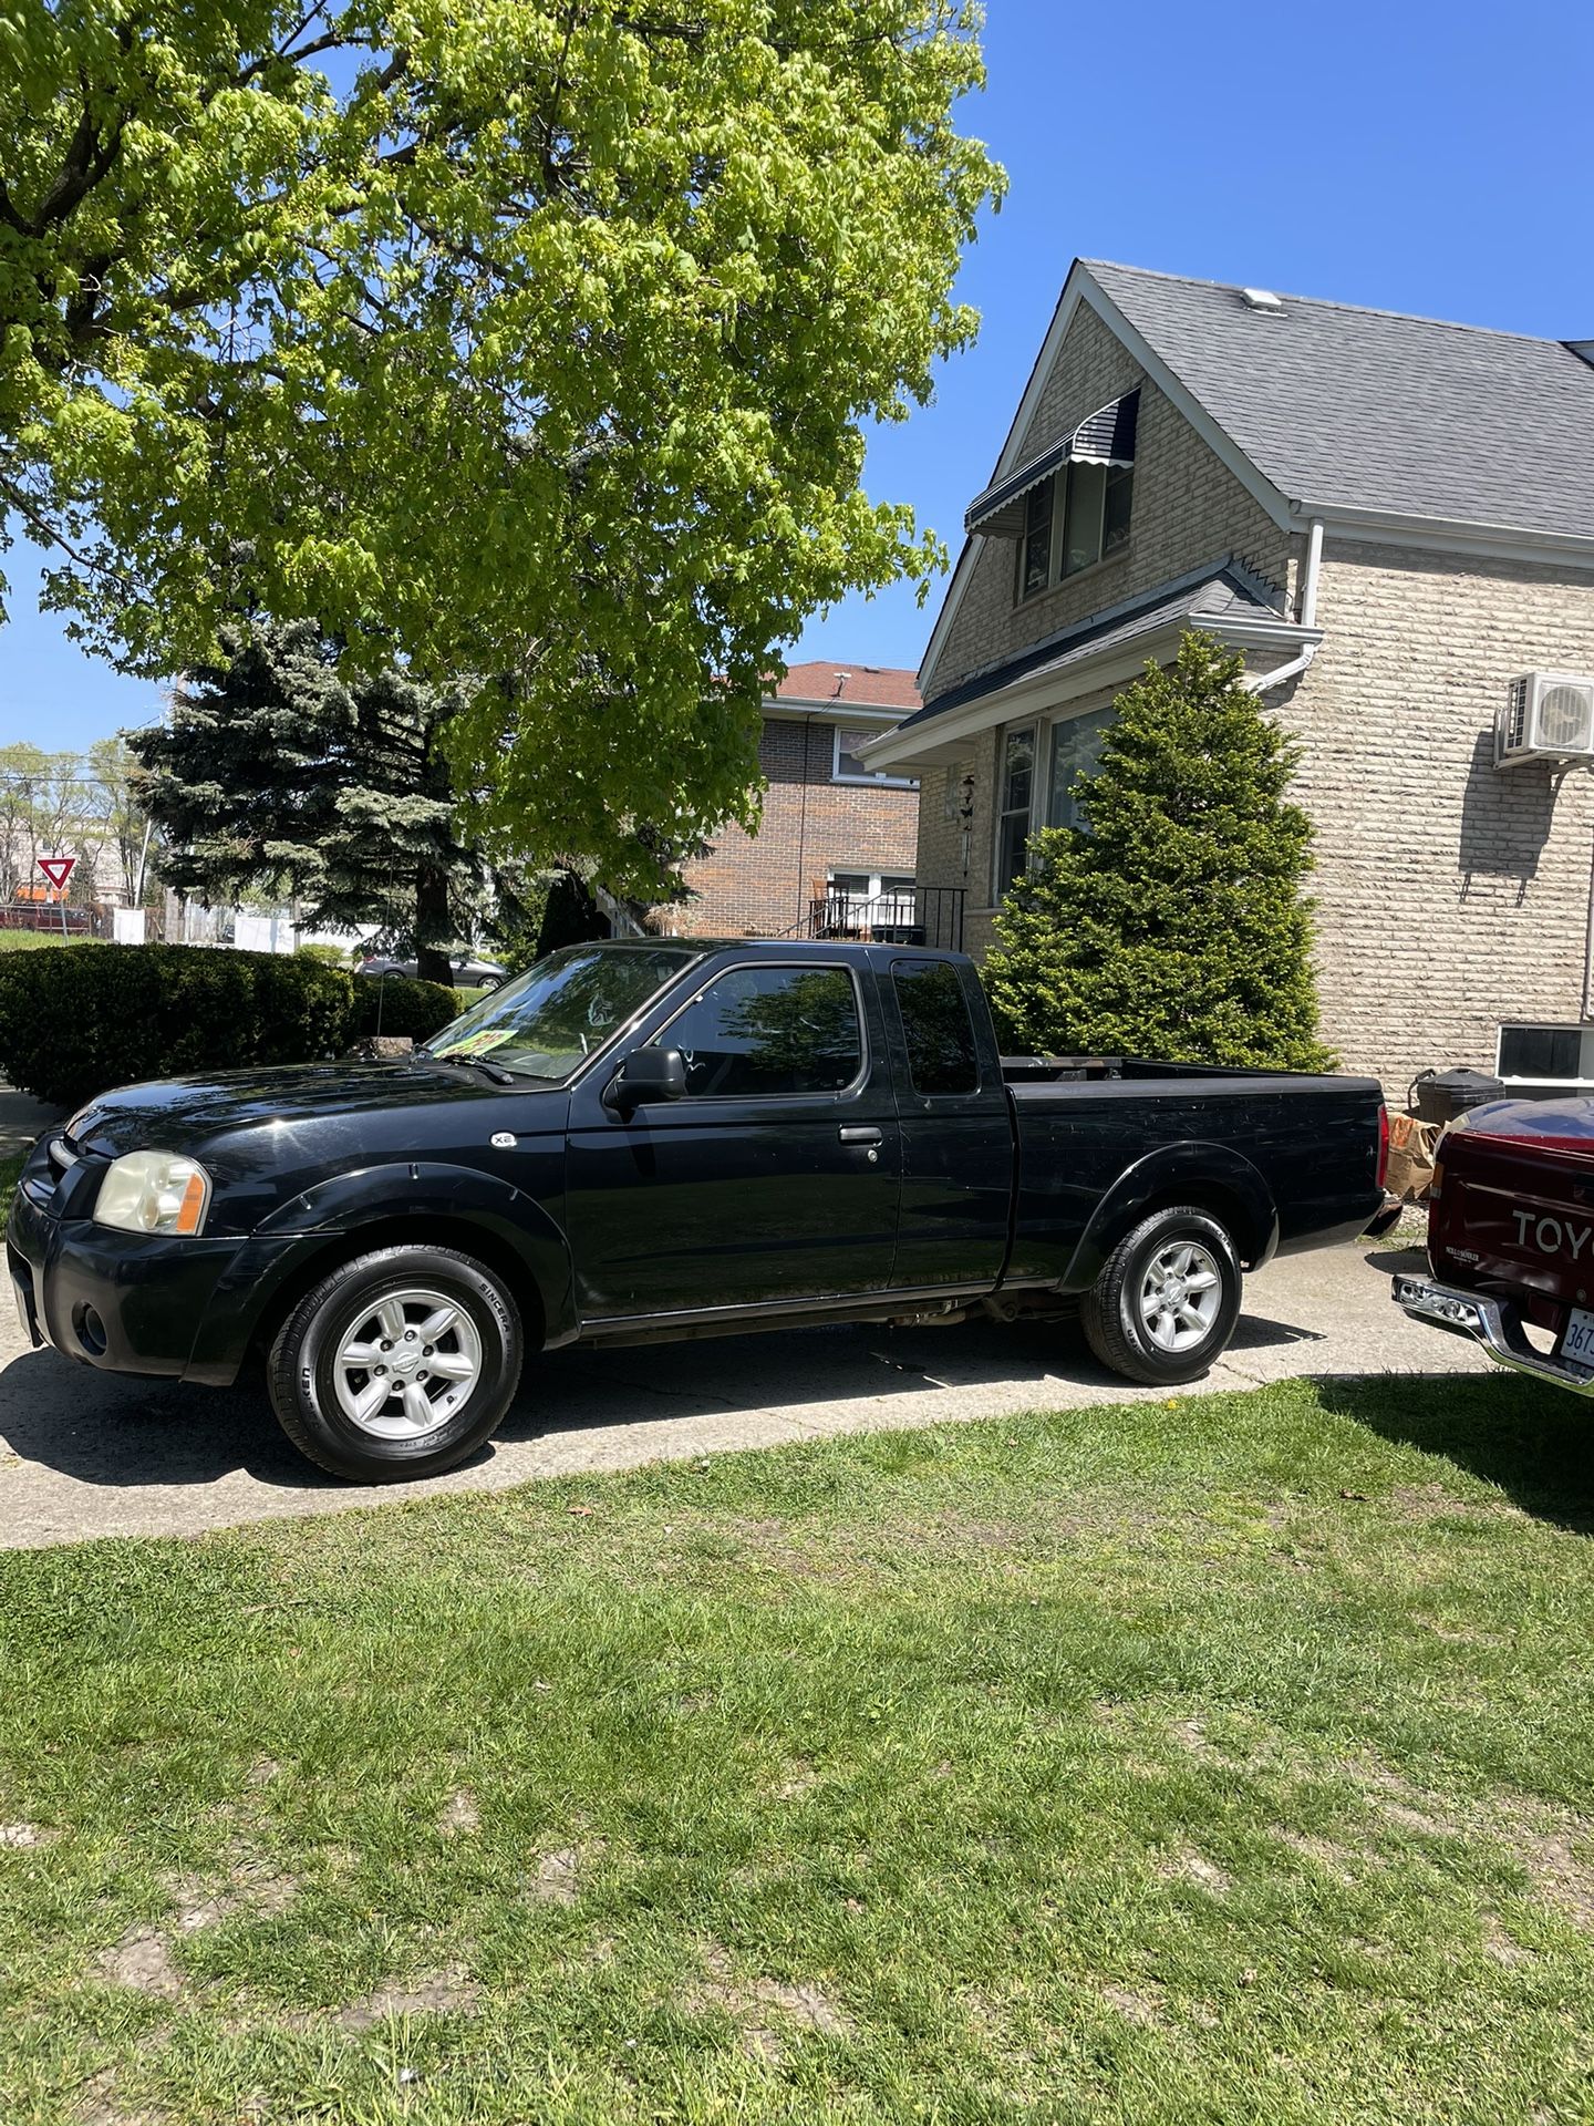
[(0, 2117), (1594, 2117), (1507, 1378), (0, 1558)]

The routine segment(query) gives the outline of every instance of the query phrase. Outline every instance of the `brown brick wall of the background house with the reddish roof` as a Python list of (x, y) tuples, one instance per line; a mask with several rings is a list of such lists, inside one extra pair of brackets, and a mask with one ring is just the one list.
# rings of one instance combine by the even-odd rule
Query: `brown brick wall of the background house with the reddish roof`
[[(727, 827), (714, 853), (686, 870), (693, 899), (659, 912), (682, 938), (776, 935), (808, 918), (812, 884), (829, 870), (914, 876), (918, 791), (833, 782), (837, 721), (765, 716), (759, 767), (769, 789), (757, 836)], [(871, 727), (874, 729), (874, 727)]]

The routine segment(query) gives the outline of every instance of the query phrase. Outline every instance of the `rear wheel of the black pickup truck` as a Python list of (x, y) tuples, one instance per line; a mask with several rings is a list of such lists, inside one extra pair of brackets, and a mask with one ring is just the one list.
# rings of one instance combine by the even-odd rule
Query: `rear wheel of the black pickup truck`
[(1239, 1256), (1205, 1210), (1177, 1205), (1141, 1218), (1084, 1295), (1090, 1350), (1114, 1373), (1173, 1388), (1199, 1380), (1239, 1318)]

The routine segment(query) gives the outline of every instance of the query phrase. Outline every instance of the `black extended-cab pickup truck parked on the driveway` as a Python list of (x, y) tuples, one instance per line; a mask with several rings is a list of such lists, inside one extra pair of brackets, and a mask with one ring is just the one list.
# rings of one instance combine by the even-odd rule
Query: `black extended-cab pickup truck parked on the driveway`
[(527, 1352), (1082, 1312), (1194, 1380), (1241, 1271), (1381, 1201), (1367, 1078), (1003, 1061), (973, 965), (884, 944), (572, 946), (412, 1057), (138, 1084), (34, 1146), (23, 1329), (121, 1373), (264, 1361), (359, 1480), (487, 1441)]

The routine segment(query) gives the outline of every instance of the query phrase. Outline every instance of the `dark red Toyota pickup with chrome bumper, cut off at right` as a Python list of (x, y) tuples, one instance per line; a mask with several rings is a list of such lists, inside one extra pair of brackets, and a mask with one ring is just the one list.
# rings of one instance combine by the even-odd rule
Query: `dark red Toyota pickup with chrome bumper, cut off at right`
[(1594, 1395), (1594, 1099), (1500, 1099), (1449, 1125), (1428, 1267), (1394, 1280), (1413, 1320)]

